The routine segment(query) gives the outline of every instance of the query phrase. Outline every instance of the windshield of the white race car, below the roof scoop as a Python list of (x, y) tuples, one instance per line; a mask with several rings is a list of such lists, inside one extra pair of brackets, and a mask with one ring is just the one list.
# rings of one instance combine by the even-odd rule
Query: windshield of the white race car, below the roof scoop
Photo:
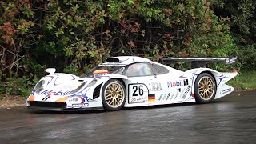
[(124, 69), (124, 66), (96, 66), (90, 72), (82, 75), (82, 78), (93, 78), (95, 70), (107, 70), (108, 74), (122, 74)]

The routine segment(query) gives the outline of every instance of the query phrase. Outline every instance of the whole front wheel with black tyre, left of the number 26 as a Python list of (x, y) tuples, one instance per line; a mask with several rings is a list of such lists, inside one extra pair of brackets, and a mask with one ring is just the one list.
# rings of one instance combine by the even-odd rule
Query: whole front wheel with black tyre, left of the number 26
[(102, 88), (102, 104), (105, 110), (121, 110), (126, 102), (126, 88), (118, 79), (110, 79)]

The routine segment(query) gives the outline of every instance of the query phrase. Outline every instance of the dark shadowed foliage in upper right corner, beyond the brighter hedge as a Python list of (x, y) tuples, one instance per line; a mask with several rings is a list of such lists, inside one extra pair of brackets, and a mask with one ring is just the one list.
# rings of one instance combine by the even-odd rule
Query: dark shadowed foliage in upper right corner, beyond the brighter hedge
[(222, 18), (230, 19), (230, 32), (238, 46), (239, 62), (243, 68), (255, 68), (256, 55), (256, 2), (253, 0), (216, 0), (214, 11)]

